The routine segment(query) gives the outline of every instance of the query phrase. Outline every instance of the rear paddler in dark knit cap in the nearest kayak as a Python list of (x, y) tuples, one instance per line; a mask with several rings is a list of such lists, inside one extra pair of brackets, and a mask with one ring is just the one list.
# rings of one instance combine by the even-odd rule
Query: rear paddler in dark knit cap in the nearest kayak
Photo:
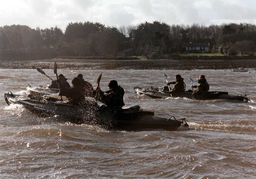
[(106, 94), (101, 91), (99, 86), (96, 88), (99, 93), (99, 101), (110, 109), (121, 109), (124, 106), (124, 89), (118, 86), (116, 80), (111, 80), (108, 87), (109, 91), (106, 91)]

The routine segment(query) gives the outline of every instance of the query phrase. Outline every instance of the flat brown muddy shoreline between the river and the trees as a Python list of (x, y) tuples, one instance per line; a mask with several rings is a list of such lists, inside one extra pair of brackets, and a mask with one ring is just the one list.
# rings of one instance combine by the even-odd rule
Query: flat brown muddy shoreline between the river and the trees
[(28, 61), (1, 61), (2, 69), (52, 69), (54, 61), (59, 69), (231, 69), (256, 68), (256, 59), (240, 60), (174, 60), (174, 59), (139, 59), (139, 60), (88, 60), (88, 59), (45, 59)]

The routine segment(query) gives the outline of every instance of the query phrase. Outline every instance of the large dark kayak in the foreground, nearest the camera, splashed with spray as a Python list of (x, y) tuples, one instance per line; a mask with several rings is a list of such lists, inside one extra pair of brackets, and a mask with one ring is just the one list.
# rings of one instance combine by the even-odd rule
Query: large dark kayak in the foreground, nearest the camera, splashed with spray
[[(152, 111), (143, 111), (139, 106), (109, 111), (99, 108), (96, 102), (86, 101), (79, 107), (59, 101), (33, 100), (12, 92), (4, 94), (8, 105), (20, 104), (39, 117), (60, 115), (70, 118), (73, 123), (97, 124), (111, 129), (134, 130), (176, 130), (182, 124), (188, 126), (185, 118), (176, 120), (154, 116)], [(48, 99), (48, 98), (47, 98)]]

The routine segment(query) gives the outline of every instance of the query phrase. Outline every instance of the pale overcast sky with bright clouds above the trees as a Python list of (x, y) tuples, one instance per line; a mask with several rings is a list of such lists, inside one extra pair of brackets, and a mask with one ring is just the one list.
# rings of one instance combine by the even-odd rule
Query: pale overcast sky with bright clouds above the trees
[(158, 20), (171, 24), (256, 24), (255, 0), (0, 0), (0, 26), (31, 28), (70, 22), (99, 22), (106, 26), (137, 25)]

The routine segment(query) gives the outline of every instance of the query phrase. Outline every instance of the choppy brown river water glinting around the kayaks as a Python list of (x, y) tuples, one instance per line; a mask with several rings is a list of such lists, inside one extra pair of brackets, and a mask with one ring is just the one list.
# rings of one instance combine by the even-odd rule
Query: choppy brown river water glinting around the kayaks
[[(55, 79), (53, 70), (45, 69)], [(78, 73), (96, 86), (100, 70), (61, 70), (68, 81)], [(249, 94), (249, 102), (151, 99), (133, 87), (164, 86), (204, 74), (210, 91)], [(126, 107), (140, 105), (159, 117), (186, 118), (190, 130), (113, 131), (40, 118), (19, 105), (7, 106), (4, 93), (28, 94), (25, 86), (50, 80), (35, 69), (0, 69), (0, 178), (255, 178), (255, 73), (231, 70), (102, 70), (100, 86), (118, 81)], [(194, 83), (193, 85), (196, 85)]]

